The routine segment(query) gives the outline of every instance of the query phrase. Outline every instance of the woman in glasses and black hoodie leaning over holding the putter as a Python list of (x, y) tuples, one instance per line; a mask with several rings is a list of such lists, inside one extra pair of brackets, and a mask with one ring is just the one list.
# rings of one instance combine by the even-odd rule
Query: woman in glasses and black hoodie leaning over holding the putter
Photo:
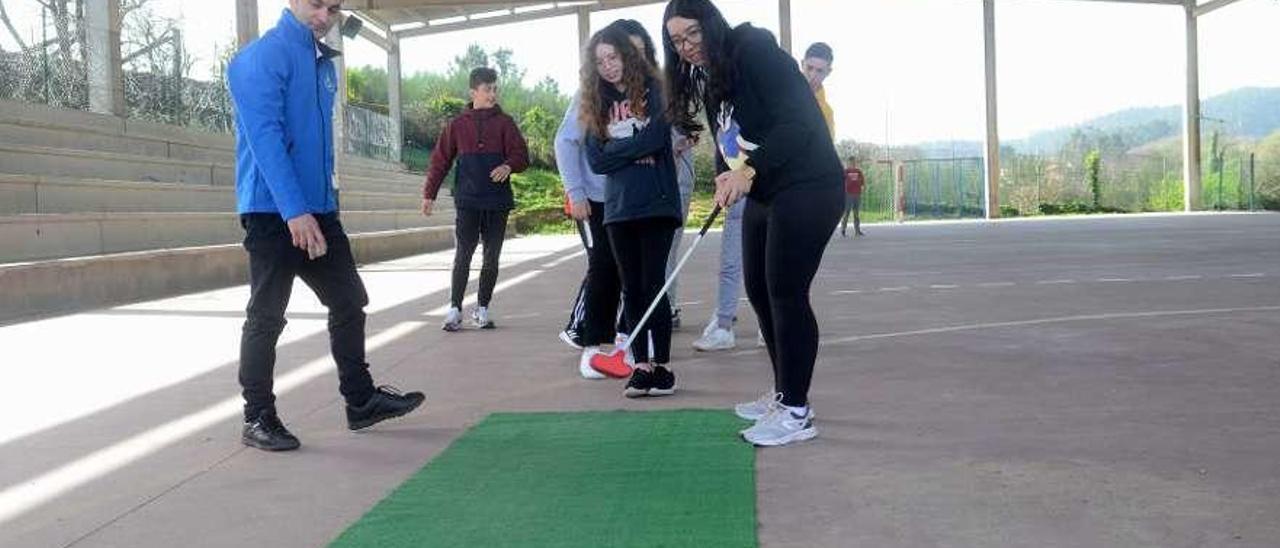
[(773, 362), (773, 389), (736, 406), (755, 420), (742, 437), (783, 446), (818, 434), (809, 384), (818, 321), (809, 286), (844, 204), (844, 173), (827, 123), (795, 60), (768, 31), (730, 28), (708, 0), (672, 0), (663, 14), (668, 119), (696, 131), (704, 110), (717, 142), (716, 202), (746, 197), (746, 294)]

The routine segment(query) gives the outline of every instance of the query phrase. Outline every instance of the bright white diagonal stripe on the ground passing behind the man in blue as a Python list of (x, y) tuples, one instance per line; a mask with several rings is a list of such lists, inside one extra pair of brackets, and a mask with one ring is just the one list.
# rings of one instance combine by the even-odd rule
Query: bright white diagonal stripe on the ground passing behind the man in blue
[[(366, 352), (372, 352), (421, 328), (421, 321), (403, 321), (369, 338)], [(312, 379), (333, 374), (333, 357), (308, 361), (275, 379), (279, 397)], [(178, 440), (219, 423), (232, 420), (243, 412), (244, 399), (232, 396), (191, 415), (174, 419), (114, 446), (95, 451), (76, 461), (59, 466), (0, 492), (0, 524), (10, 521), (41, 504), (67, 494), (86, 483), (111, 474), (147, 457)], [(239, 449), (237, 449), (239, 451)]]

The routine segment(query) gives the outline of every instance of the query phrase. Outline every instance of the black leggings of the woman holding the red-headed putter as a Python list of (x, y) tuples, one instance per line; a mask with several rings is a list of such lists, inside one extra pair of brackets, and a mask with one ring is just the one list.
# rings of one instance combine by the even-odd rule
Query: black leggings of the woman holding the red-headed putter
[(746, 202), (742, 270), (746, 297), (760, 321), (782, 403), (809, 402), (818, 357), (818, 320), (809, 306), (822, 254), (844, 211), (844, 188), (788, 188), (771, 204)]

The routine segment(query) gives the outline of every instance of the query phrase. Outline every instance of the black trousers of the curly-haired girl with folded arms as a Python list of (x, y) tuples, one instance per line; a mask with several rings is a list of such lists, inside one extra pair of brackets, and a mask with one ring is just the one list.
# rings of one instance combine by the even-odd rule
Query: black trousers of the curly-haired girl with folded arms
[(667, 254), (671, 252), (671, 239), (675, 237), (672, 220), (627, 220), (605, 228), (613, 246), (618, 278), (622, 279), (622, 310), (627, 333), (635, 335), (631, 353), (637, 364), (666, 364), (671, 361), (669, 300), (659, 300), (658, 307), (639, 333), (636, 325), (667, 279)]

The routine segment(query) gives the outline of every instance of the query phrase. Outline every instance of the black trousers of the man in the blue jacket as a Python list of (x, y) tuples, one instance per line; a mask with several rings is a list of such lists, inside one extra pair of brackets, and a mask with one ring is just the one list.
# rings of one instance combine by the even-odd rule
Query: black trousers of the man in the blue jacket
[(273, 392), (275, 344), (284, 330), (293, 278), (302, 278), (329, 309), (329, 350), (338, 362), (339, 391), (348, 405), (362, 405), (374, 393), (365, 362), (365, 305), (369, 294), (356, 273), (351, 242), (337, 214), (315, 215), (329, 252), (310, 260), (293, 247), (279, 214), (241, 215), (248, 251), (250, 300), (241, 335), (239, 383), (244, 417), (275, 411)]

